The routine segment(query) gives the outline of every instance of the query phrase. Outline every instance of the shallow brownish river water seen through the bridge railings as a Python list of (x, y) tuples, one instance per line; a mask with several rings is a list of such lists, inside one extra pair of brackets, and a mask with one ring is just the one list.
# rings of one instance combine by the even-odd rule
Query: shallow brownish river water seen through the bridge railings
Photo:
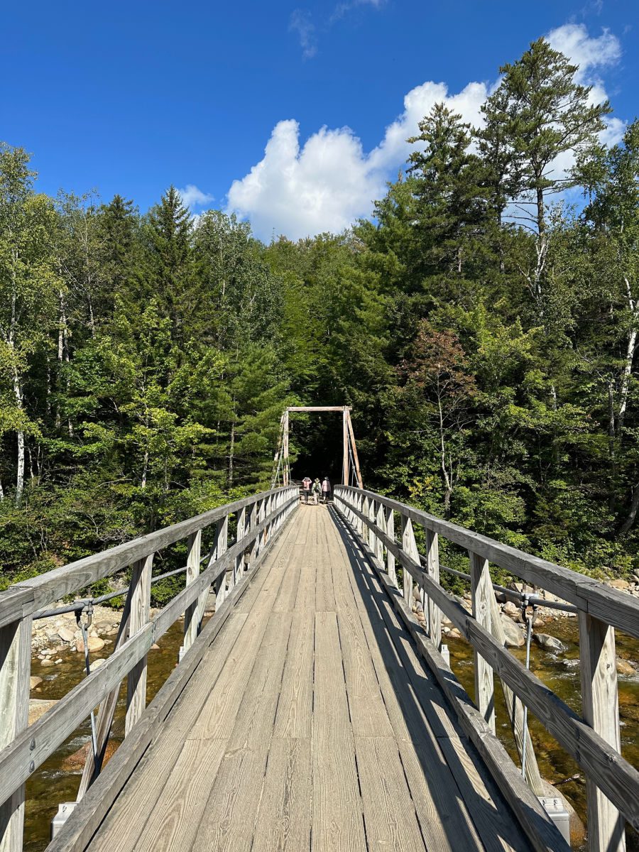
[[(561, 654), (548, 653), (536, 645), (531, 649), (531, 668), (567, 705), (580, 713), (581, 699), (579, 691), (579, 644), (576, 619), (556, 619), (549, 623), (544, 631), (556, 636), (563, 642), (566, 650)], [(173, 671), (178, 648), (181, 645), (181, 624), (173, 627), (162, 637), (158, 650), (148, 657), (147, 700), (158, 692), (166, 678)], [(473, 654), (469, 645), (462, 640), (447, 640), (451, 652), (452, 669), (472, 695)], [(514, 650), (515, 656), (525, 660), (525, 649)], [(639, 659), (639, 642), (631, 640), (621, 633), (617, 635), (617, 653), (625, 659)], [(32, 692), (32, 698), (60, 699), (84, 676), (83, 655), (80, 653), (60, 653), (63, 662), (55, 668), (43, 667), (40, 660), (32, 659), (32, 675), (40, 676), (43, 682)], [(113, 739), (118, 742), (124, 733), (124, 694), (121, 689)], [(496, 690), (500, 695), (500, 690)], [(619, 677), (619, 705), (621, 716), (621, 750), (624, 757), (635, 767), (639, 767), (639, 676)], [(503, 702), (497, 709), (498, 735), (504, 746), (515, 757), (515, 745), (510, 734), (509, 723)], [(545, 728), (529, 714), (531, 737), (537, 754), (542, 776), (555, 786), (573, 803), (573, 806), (585, 822), (585, 782), (579, 767), (561, 749)], [(26, 852), (40, 852), (49, 842), (50, 823), (57, 812), (58, 804), (75, 800), (83, 769), (83, 760), (78, 759), (78, 749), (85, 746), (90, 738), (90, 723), (84, 722), (60, 748), (55, 751), (26, 785)], [(73, 756), (76, 757), (73, 757)], [(639, 852), (637, 836), (628, 838), (629, 852)]]

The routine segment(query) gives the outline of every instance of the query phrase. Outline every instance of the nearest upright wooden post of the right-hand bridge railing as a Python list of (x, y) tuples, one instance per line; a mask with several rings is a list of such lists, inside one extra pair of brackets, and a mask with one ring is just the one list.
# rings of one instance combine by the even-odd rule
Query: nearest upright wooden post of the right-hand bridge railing
[[(579, 654), (584, 722), (616, 751), (621, 751), (614, 630), (581, 610)], [(625, 820), (589, 773), (586, 774), (586, 797), (590, 852), (624, 852)]]

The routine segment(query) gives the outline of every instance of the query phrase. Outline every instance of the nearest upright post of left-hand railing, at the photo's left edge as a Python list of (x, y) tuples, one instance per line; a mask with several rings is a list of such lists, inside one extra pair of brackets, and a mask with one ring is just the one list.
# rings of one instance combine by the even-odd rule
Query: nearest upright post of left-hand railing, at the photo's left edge
[[(0, 627), (0, 749), (29, 721), (32, 616)], [(20, 852), (25, 822), (25, 786), (0, 803), (0, 850)]]

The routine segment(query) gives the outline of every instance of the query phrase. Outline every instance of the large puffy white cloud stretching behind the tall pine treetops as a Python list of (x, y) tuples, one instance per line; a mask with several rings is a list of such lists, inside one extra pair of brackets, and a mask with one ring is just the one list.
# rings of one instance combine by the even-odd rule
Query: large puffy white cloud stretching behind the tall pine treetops
[[(610, 32), (589, 37), (583, 25), (568, 24), (548, 34), (550, 43), (579, 64), (579, 78), (596, 86), (592, 97), (606, 99), (598, 71), (619, 61), (619, 40)], [(382, 140), (370, 152), (348, 127), (323, 127), (304, 142), (294, 119), (279, 121), (259, 163), (228, 191), (228, 210), (250, 219), (257, 236), (270, 239), (284, 233), (291, 239), (323, 231), (338, 232), (358, 218), (371, 216), (374, 199), (381, 198), (384, 183), (406, 163), (412, 146), (406, 139), (416, 135), (417, 124), (435, 103), (461, 114), (463, 121), (481, 126), (481, 104), (497, 86), (468, 83), (450, 92), (446, 83), (429, 81), (404, 97), (404, 109), (386, 128)], [(619, 141), (624, 124), (607, 120), (602, 135), (608, 144)], [(568, 154), (556, 163), (556, 175), (572, 165)]]

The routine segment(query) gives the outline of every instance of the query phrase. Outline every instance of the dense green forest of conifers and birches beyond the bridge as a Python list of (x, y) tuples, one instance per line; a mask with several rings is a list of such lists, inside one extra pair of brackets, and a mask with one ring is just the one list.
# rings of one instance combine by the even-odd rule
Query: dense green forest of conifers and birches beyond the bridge
[[(0, 147), (0, 589), (268, 487), (287, 405), (365, 485), (598, 577), (639, 568), (639, 122), (539, 39), (443, 104), (371, 221), (264, 245), (170, 187), (37, 191)], [(567, 164), (560, 168), (559, 164)], [(291, 422), (301, 478), (340, 424)]]

